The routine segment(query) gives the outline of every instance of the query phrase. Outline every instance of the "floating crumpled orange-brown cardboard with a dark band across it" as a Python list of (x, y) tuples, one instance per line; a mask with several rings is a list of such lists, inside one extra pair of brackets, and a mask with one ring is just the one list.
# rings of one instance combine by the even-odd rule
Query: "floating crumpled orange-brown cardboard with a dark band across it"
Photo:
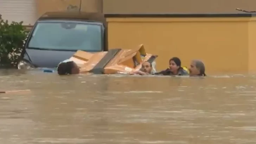
[(144, 61), (153, 62), (157, 55), (146, 53), (143, 45), (134, 49), (112, 49), (108, 52), (77, 51), (70, 60), (80, 67), (80, 73), (113, 74), (140, 70)]

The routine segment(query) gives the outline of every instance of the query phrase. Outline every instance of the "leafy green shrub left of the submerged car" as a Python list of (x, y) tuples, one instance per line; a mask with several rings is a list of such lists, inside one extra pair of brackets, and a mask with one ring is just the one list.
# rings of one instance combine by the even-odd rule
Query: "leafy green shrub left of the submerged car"
[(0, 66), (14, 67), (24, 47), (27, 31), (23, 21), (3, 20), (0, 14)]

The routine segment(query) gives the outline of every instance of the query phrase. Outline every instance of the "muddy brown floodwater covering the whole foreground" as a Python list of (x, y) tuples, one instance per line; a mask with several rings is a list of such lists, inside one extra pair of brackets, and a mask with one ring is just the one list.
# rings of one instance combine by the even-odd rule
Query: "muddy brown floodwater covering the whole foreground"
[(255, 144), (256, 77), (0, 72), (1, 144)]

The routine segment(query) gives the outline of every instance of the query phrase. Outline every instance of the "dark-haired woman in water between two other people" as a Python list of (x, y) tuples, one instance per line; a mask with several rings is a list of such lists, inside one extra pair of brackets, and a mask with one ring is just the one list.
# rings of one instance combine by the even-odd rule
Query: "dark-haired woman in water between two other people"
[(169, 68), (164, 71), (155, 73), (155, 75), (164, 75), (164, 76), (185, 76), (188, 75), (188, 72), (181, 67), (181, 61), (177, 57), (173, 57), (169, 60)]

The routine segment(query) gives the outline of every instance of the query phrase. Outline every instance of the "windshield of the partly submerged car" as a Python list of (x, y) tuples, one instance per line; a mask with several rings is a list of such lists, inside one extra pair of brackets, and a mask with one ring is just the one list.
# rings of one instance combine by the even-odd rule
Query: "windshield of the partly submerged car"
[(28, 47), (52, 50), (101, 51), (101, 25), (39, 22)]

